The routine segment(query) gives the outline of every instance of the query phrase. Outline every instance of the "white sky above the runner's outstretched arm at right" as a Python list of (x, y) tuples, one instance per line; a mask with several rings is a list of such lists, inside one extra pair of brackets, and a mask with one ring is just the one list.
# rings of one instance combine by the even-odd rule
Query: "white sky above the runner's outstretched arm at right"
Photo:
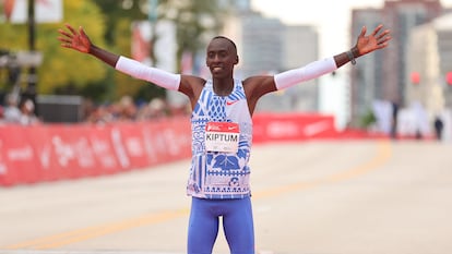
[[(452, 0), (441, 0), (452, 7)], [(320, 36), (320, 57), (330, 57), (349, 49), (350, 10), (382, 8), (384, 0), (251, 0), (253, 10), (264, 16), (277, 17), (287, 25), (313, 25)], [(384, 25), (384, 24), (383, 24)], [(373, 27), (368, 27), (368, 33)]]

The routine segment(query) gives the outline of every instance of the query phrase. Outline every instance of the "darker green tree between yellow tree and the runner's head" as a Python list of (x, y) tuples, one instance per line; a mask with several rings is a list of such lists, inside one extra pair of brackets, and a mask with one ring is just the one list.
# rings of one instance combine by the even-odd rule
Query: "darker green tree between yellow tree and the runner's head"
[[(170, 20), (177, 27), (177, 63), (181, 62), (183, 52), (197, 53), (203, 49), (212, 34), (216, 34), (223, 24), (228, 1), (212, 0), (158, 0), (155, 11), (157, 20)], [(223, 4), (221, 4), (223, 2)], [(131, 25), (134, 21), (148, 19), (148, 0), (104, 0), (98, 5), (104, 11), (109, 29), (105, 38), (118, 52), (130, 56)], [(158, 59), (155, 59), (158, 61)], [(180, 64), (176, 66), (180, 72)], [(112, 73), (115, 89), (110, 95), (119, 98), (122, 95), (134, 95), (135, 99), (150, 100), (153, 97), (165, 96), (166, 90), (158, 86), (148, 86), (146, 82), (133, 80), (121, 73)]]

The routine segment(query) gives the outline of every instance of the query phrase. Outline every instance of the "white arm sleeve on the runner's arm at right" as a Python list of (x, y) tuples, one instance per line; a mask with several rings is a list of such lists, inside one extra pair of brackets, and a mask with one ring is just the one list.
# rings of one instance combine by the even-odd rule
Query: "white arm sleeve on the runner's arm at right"
[(300, 82), (319, 77), (335, 70), (337, 70), (337, 66), (333, 57), (318, 60), (309, 63), (306, 66), (276, 74), (274, 76), (276, 88), (284, 89)]

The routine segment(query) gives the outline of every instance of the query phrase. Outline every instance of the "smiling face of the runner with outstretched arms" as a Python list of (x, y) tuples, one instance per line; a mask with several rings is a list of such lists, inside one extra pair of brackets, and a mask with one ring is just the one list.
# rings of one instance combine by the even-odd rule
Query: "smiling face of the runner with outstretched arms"
[(207, 47), (206, 64), (212, 76), (231, 77), (234, 65), (238, 63), (237, 50), (225, 38), (214, 38)]

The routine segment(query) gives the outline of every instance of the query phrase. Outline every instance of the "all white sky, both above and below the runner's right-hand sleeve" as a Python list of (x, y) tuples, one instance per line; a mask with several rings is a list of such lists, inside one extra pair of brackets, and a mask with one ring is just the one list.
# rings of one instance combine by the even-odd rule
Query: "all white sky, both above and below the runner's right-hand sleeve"
[[(441, 0), (443, 7), (452, 8), (452, 0)], [(352, 48), (349, 27), (352, 9), (383, 8), (384, 0), (251, 0), (251, 8), (264, 16), (277, 17), (287, 25), (317, 26), (320, 36), (319, 58), (332, 57)], [(384, 24), (383, 24), (384, 25)], [(368, 27), (368, 33), (373, 27)], [(348, 109), (344, 106), (346, 77), (325, 76), (320, 78), (319, 109), (336, 118), (336, 126), (342, 129), (348, 122)], [(342, 76), (342, 77), (341, 77)]]

